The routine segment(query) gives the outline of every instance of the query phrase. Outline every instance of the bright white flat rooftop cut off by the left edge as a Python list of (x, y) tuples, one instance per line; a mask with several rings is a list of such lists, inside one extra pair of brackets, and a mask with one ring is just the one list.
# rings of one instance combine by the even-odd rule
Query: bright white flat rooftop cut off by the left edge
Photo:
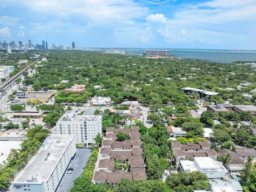
[(0, 164), (7, 159), (10, 150), (19, 149), (21, 143), (22, 141), (0, 141)]

